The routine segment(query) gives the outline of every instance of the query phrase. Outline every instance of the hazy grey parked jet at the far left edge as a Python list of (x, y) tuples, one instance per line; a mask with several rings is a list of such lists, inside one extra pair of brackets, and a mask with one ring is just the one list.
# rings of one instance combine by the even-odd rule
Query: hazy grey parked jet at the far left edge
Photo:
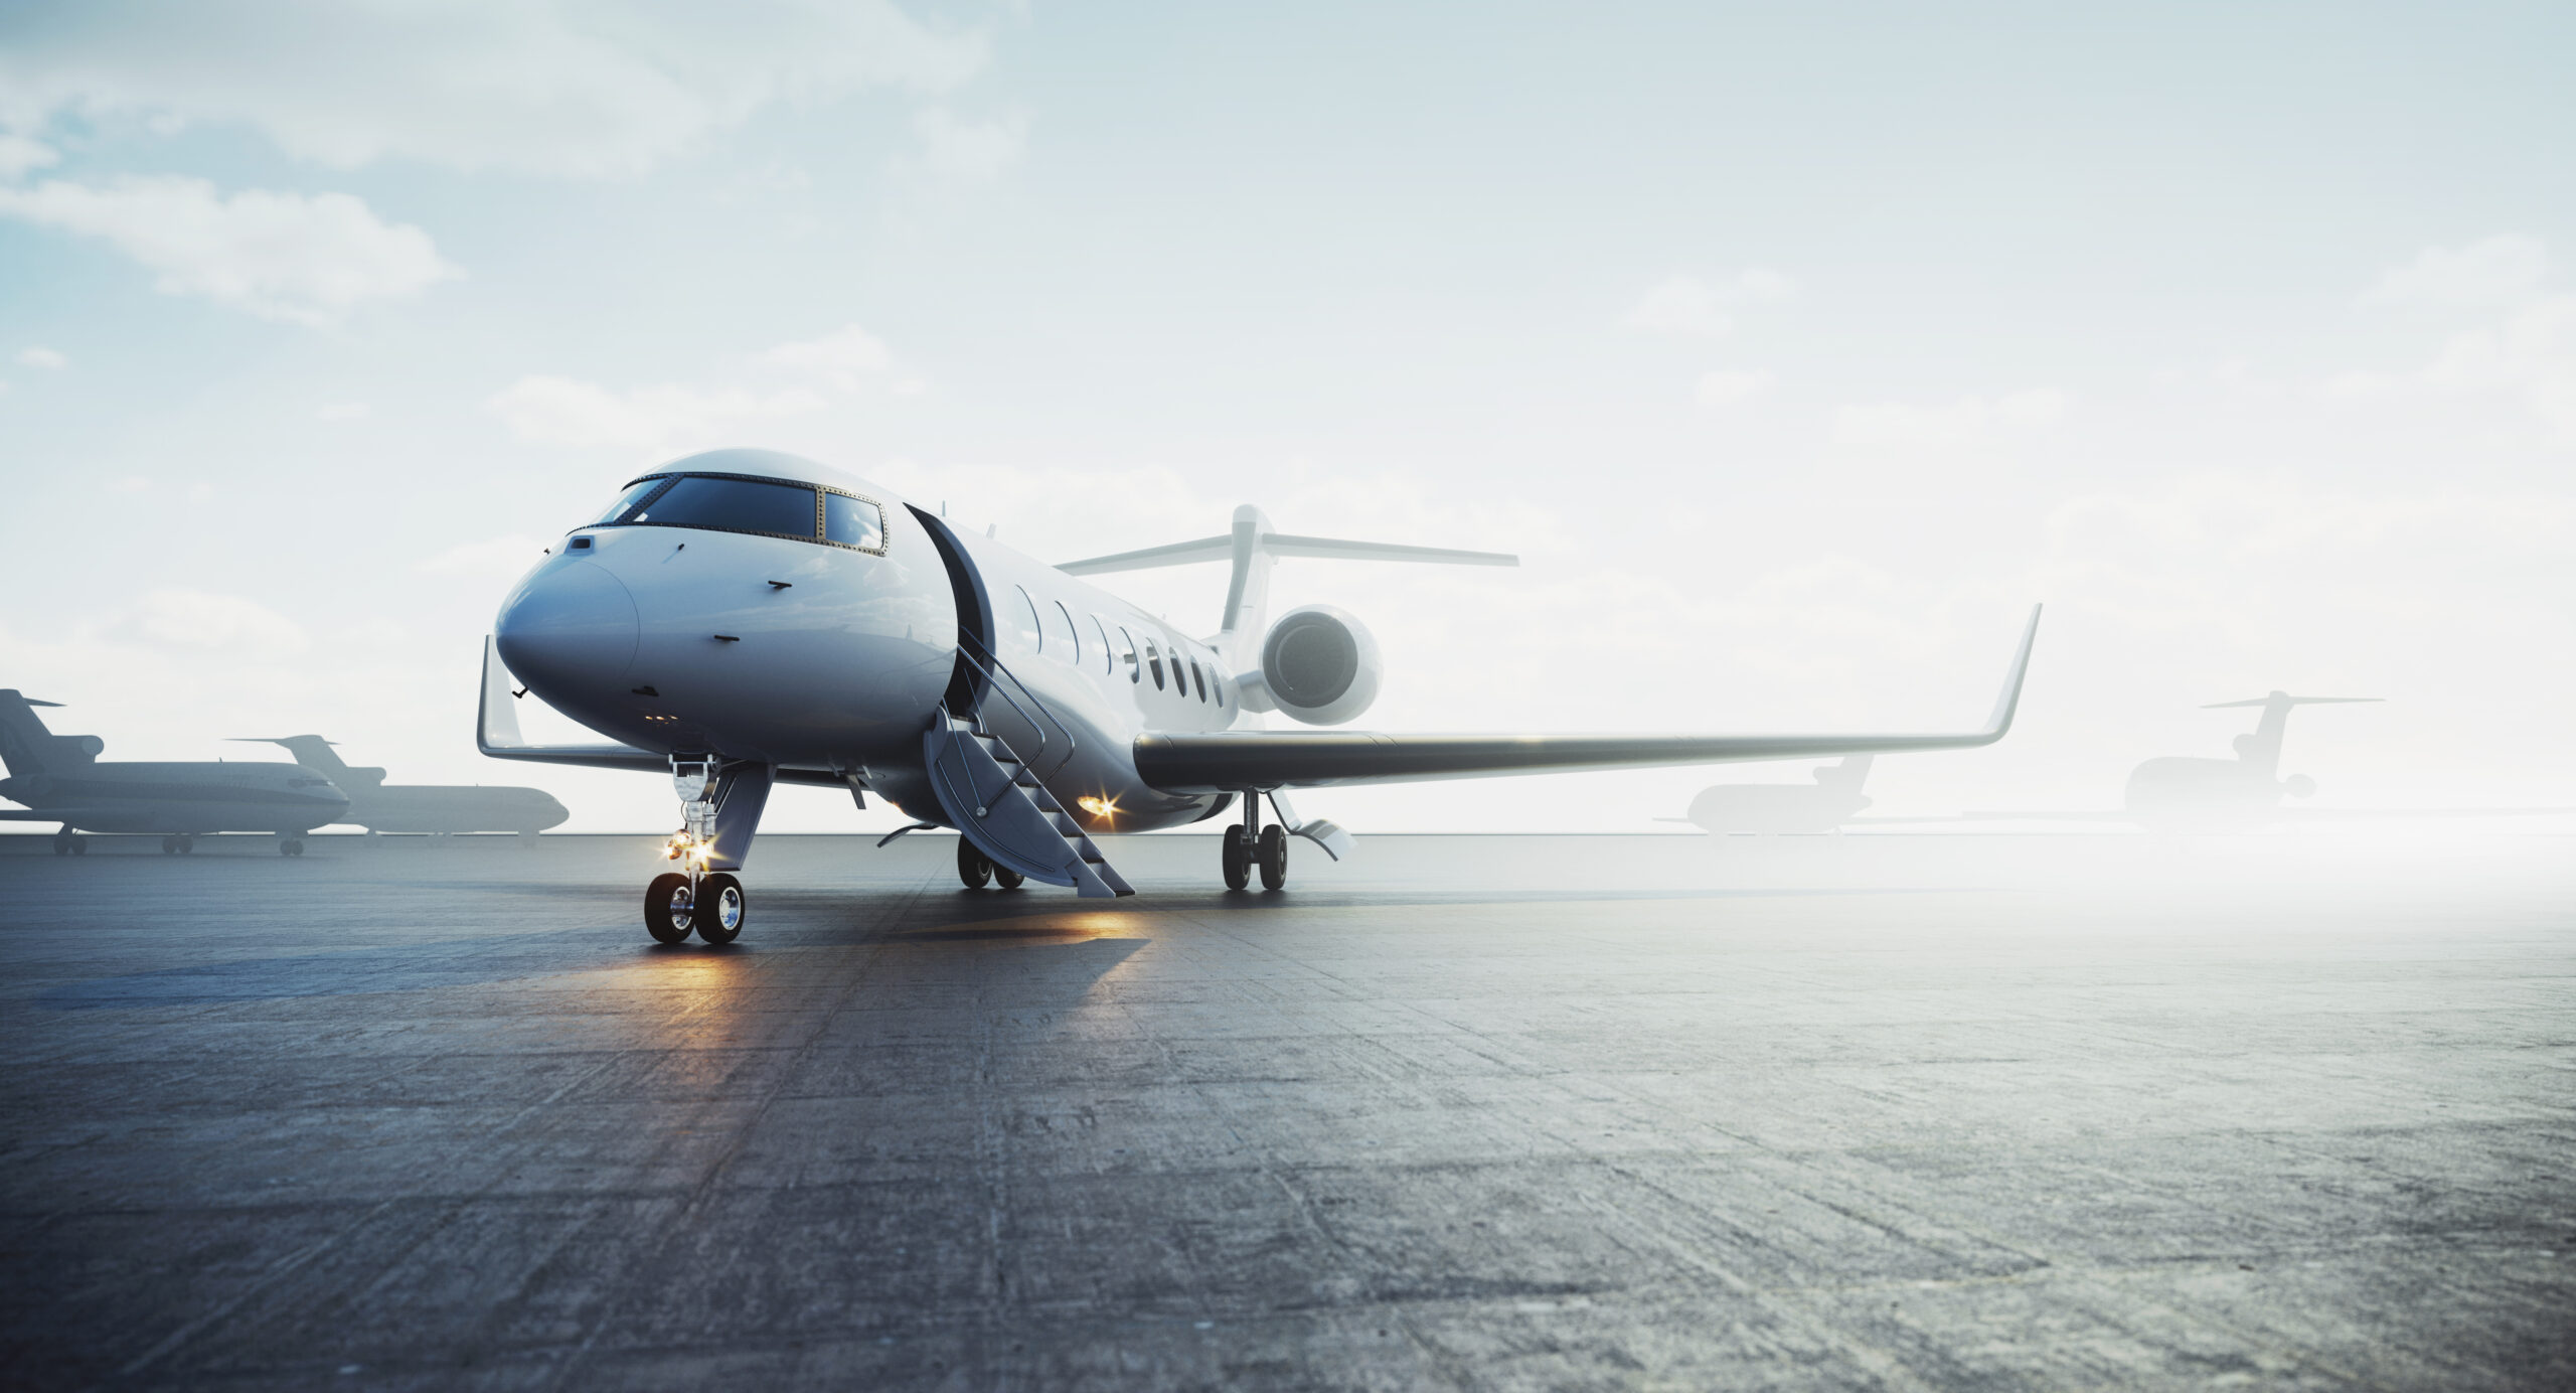
[(348, 814), (330, 778), (301, 765), (131, 762), (100, 765), (98, 736), (57, 736), (15, 690), (0, 690), (0, 821), (59, 821), (54, 855), (88, 855), (80, 832), (160, 832), (162, 852), (196, 850), (209, 832), (276, 832), (281, 855), (304, 855), (301, 837)]

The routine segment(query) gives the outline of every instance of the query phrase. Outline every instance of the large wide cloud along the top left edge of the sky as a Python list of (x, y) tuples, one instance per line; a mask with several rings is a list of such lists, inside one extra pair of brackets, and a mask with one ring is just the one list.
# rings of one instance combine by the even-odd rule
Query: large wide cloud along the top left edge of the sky
[(943, 93), (984, 67), (889, 0), (88, 0), (13, 26), (0, 124), (240, 124), (332, 167), (634, 175), (768, 106)]

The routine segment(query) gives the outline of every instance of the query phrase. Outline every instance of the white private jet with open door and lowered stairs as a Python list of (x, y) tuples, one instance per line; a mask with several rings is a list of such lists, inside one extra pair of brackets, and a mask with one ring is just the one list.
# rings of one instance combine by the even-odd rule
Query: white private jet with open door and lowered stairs
[[(1084, 896), (1133, 893), (1090, 834), (1208, 821), (1239, 798), (1226, 886), (1260, 870), (1280, 888), (1288, 837), (1350, 850), (1340, 827), (1298, 819), (1291, 788), (1994, 744), (2040, 623), (2030, 610), (1994, 716), (1965, 734), (1267, 731), (1267, 711), (1350, 721), (1381, 675), (1376, 639), (1342, 610), (1262, 623), (1278, 556), (1517, 564), (1285, 536), (1247, 505), (1226, 536), (1048, 566), (814, 461), (711, 451), (629, 481), (510, 590), (477, 736), (500, 760), (670, 772), (677, 868), (647, 888), (644, 924), (659, 942), (732, 942), (747, 909), (734, 870), (773, 783), (850, 788), (860, 806), (876, 793), (914, 827), (958, 829), (969, 888), (1025, 878)], [(1234, 566), (1206, 641), (1079, 579), (1190, 561)], [(523, 693), (613, 744), (528, 744), (510, 706)]]

